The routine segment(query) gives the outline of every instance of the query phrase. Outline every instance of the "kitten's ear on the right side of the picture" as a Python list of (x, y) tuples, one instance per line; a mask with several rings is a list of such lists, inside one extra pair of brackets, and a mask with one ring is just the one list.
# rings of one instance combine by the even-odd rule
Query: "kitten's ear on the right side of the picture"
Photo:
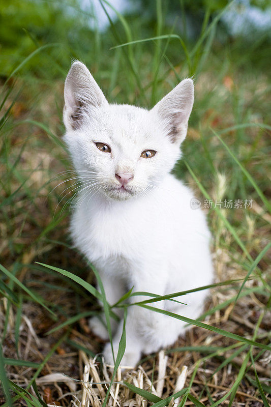
[(193, 80), (184, 79), (152, 109), (162, 120), (172, 143), (180, 144), (185, 139), (193, 102)]

